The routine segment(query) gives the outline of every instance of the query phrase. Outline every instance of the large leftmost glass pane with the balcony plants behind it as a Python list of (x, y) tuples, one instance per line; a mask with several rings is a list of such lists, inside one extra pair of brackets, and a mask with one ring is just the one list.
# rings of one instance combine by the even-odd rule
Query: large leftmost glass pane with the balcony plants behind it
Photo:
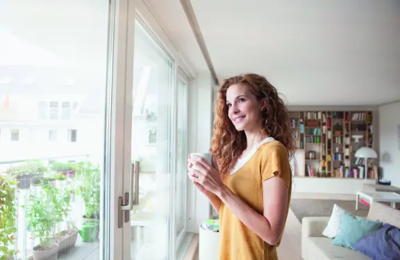
[(103, 257), (108, 4), (1, 0), (0, 259)]

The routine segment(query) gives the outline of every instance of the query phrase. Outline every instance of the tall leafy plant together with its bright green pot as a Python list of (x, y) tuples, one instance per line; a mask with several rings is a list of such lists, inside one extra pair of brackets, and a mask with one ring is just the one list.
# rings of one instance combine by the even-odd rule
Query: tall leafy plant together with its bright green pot
[(97, 164), (82, 162), (77, 171), (81, 178), (78, 191), (85, 202), (85, 215), (79, 234), (83, 242), (97, 241), (100, 219), (100, 168)]

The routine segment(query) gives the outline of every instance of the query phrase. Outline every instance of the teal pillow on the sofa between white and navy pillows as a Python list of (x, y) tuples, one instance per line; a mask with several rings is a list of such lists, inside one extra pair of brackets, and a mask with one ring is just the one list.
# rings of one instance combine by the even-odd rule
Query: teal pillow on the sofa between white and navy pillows
[(338, 235), (335, 236), (333, 245), (340, 245), (345, 248), (352, 248), (358, 240), (367, 234), (382, 227), (381, 221), (366, 220), (357, 216), (351, 216), (348, 212), (342, 214)]

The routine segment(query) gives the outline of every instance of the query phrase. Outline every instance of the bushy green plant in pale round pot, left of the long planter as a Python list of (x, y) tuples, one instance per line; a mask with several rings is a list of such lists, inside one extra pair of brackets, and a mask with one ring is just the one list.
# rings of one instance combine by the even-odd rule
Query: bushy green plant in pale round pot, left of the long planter
[(57, 223), (63, 219), (58, 189), (44, 182), (42, 189), (26, 202), (26, 220), (33, 239), (40, 243), (33, 248), (34, 260), (57, 260), (58, 243), (53, 239)]

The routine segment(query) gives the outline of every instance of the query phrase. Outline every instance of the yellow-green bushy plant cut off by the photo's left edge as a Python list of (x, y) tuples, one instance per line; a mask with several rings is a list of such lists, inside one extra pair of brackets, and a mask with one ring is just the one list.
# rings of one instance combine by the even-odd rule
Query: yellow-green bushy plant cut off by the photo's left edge
[(17, 181), (10, 177), (0, 176), (0, 260), (9, 259), (17, 252), (10, 249), (15, 241), (15, 220), (17, 218), (17, 204), (15, 191)]

